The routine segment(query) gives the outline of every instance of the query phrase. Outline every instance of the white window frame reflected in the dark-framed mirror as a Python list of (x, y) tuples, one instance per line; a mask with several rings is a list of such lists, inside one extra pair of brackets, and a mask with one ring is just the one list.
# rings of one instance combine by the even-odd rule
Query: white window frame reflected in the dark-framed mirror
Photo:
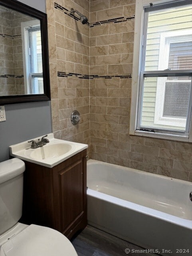
[(43, 73), (31, 73), (30, 72), (30, 49), (28, 47), (29, 39), (28, 39), (28, 29), (27, 28), (36, 27), (36, 26), (40, 26), (39, 20), (30, 20), (30, 21), (26, 21), (26, 22), (21, 22), (25, 94), (36, 94), (37, 92), (32, 92), (32, 79), (34, 77), (43, 77)]

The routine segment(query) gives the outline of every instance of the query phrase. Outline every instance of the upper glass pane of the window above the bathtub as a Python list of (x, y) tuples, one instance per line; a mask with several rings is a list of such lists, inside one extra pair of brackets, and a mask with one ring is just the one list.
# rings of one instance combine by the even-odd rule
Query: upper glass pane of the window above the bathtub
[(192, 68), (192, 5), (148, 13), (144, 70)]

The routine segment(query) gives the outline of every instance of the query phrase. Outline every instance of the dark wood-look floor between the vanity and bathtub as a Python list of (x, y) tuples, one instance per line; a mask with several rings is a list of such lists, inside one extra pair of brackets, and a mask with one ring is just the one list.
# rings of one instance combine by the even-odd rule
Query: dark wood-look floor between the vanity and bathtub
[(130, 250), (143, 250), (143, 248), (89, 225), (71, 242), (78, 256), (157, 256), (157, 254), (141, 252), (126, 254), (126, 248)]

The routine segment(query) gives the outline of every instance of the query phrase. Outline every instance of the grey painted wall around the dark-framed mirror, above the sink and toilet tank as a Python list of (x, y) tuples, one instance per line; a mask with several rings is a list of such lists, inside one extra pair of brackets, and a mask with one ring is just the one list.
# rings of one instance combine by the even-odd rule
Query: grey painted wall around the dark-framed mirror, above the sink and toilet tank
[[(45, 0), (20, 2), (46, 12)], [(10, 145), (51, 132), (49, 101), (9, 104), (5, 111), (6, 121), (0, 122), (0, 162), (9, 159)]]

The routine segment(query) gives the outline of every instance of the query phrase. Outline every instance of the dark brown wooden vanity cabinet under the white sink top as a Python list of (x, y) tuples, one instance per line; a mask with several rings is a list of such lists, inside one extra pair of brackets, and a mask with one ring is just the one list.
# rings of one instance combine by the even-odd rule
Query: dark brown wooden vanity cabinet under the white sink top
[(53, 168), (25, 161), (21, 222), (54, 228), (69, 239), (85, 228), (86, 154), (83, 150)]

